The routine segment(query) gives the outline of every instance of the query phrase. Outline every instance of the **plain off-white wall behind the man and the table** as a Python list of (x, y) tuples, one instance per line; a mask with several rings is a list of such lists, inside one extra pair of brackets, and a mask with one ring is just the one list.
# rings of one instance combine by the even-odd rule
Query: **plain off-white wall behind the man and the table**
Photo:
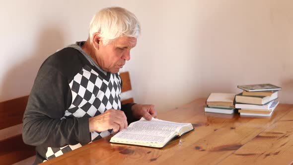
[(136, 102), (159, 111), (237, 84), (273, 83), (293, 103), (292, 0), (1, 0), (0, 101), (29, 94), (41, 63), (122, 6), (142, 24), (126, 69)]

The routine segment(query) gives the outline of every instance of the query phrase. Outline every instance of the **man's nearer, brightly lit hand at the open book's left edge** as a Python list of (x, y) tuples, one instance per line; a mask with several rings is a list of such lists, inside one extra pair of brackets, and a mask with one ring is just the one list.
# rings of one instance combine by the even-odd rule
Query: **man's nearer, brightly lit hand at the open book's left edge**
[(106, 112), (88, 119), (89, 132), (103, 132), (113, 129), (114, 132), (127, 128), (127, 119), (123, 111), (109, 109)]

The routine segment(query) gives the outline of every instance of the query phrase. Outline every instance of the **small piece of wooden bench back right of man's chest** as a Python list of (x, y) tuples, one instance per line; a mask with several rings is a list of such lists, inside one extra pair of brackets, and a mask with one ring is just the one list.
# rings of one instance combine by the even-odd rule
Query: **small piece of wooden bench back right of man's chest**
[(134, 103), (134, 99), (131, 96), (131, 83), (129, 72), (120, 73), (122, 79), (122, 89), (121, 89), (121, 104)]

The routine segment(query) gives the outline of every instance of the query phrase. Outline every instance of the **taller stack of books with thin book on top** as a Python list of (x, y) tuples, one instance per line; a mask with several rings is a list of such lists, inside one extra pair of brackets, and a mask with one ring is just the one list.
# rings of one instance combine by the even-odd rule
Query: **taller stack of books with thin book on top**
[(272, 84), (238, 85), (243, 92), (235, 96), (235, 108), (241, 116), (270, 117), (279, 104), (278, 91), (282, 88)]

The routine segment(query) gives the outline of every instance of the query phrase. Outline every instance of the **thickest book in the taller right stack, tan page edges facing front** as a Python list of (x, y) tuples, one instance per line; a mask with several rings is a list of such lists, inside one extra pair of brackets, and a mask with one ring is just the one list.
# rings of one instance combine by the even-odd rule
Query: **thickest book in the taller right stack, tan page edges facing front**
[(264, 105), (278, 98), (278, 92), (274, 92), (271, 96), (243, 96), (239, 93), (235, 96), (237, 103)]

